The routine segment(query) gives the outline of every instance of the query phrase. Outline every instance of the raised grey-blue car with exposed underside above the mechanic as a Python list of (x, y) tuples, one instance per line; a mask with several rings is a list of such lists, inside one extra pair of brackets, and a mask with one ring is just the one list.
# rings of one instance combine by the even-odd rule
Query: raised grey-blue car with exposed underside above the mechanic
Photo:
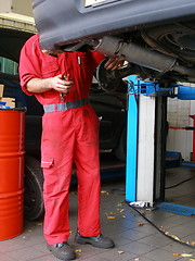
[[(158, 83), (195, 82), (195, 2), (34, 0), (42, 50), (90, 48), (125, 57), (127, 71)], [(49, 11), (50, 12), (47, 12)]]

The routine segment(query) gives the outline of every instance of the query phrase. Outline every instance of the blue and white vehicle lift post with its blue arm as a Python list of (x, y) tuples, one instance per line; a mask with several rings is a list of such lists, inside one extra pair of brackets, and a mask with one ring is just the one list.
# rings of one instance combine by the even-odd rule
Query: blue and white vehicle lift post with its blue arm
[(165, 199), (167, 97), (192, 100), (195, 88), (128, 79), (126, 201), (153, 207)]

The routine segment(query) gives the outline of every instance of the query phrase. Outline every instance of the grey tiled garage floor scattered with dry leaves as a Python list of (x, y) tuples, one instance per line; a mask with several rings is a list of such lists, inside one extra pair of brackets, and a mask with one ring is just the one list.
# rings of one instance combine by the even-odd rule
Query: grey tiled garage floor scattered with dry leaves
[[(179, 173), (179, 177), (178, 177)], [(178, 184), (195, 171), (188, 169), (168, 170), (166, 186)], [(195, 204), (195, 179), (166, 190), (168, 200), (176, 203)], [(73, 186), (70, 192), (70, 227), (69, 244), (77, 252), (78, 260), (84, 261), (173, 261), (195, 260), (195, 219), (160, 210), (139, 210), (143, 216), (155, 225), (173, 235), (180, 243), (158, 232), (148, 221), (125, 203), (125, 178), (106, 179), (102, 184), (102, 232), (115, 240), (116, 247), (110, 250), (98, 249), (89, 245), (74, 243), (77, 228), (77, 192)], [(183, 240), (183, 244), (181, 244)], [(192, 256), (191, 256), (192, 254)], [(187, 256), (187, 257), (186, 257)], [(22, 235), (0, 241), (0, 261), (54, 261), (42, 236), (42, 222), (25, 222)]]

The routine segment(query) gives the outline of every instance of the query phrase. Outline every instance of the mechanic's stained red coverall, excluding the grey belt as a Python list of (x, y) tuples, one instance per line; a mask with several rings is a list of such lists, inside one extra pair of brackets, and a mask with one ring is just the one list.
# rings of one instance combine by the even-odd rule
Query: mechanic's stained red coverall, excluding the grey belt
[[(23, 90), (31, 78), (69, 74), (74, 86), (64, 102), (89, 96), (93, 71), (105, 59), (95, 52), (66, 52), (57, 58), (42, 53), (39, 36), (23, 47), (20, 76)], [(60, 92), (35, 94), (41, 104), (63, 102)], [(78, 177), (78, 231), (82, 236), (96, 236), (100, 228), (100, 121), (90, 104), (65, 111), (44, 112), (42, 117), (41, 166), (44, 185), (43, 233), (49, 245), (67, 241), (69, 236), (68, 189), (73, 162)]]

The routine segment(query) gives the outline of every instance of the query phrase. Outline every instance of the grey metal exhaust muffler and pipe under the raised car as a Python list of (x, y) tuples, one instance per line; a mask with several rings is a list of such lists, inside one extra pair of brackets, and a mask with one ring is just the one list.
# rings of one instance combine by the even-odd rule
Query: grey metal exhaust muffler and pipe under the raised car
[(193, 78), (195, 75), (194, 69), (179, 66), (176, 58), (140, 47), (132, 42), (123, 42), (117, 37), (105, 36), (98, 41), (90, 40), (88, 44), (91, 46), (93, 51), (102, 52), (110, 57), (122, 55), (131, 63), (155, 70), (159, 73), (176, 71), (178, 73), (182, 73), (183, 75), (192, 76)]

